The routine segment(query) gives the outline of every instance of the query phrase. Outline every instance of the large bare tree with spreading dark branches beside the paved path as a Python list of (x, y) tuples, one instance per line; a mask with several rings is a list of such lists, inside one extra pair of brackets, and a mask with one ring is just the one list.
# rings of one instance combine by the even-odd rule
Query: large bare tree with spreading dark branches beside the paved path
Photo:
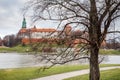
[[(107, 33), (119, 33), (119, 31), (110, 31), (110, 28), (113, 27), (112, 23), (120, 17), (120, 0), (30, 0), (26, 8), (33, 10), (34, 21), (58, 21), (58, 27), (63, 27), (63, 32), (67, 25), (72, 25), (74, 28), (82, 29), (83, 34), (88, 33), (87, 38), (82, 34), (77, 37), (62, 36), (60, 38), (62, 42), (56, 41), (60, 44), (66, 44), (66, 41), (69, 43), (62, 45), (62, 48), (57, 48), (61, 50), (57, 50), (58, 53), (55, 55), (44, 54), (42, 57), (53, 64), (88, 58), (89, 80), (100, 80), (99, 49)], [(85, 41), (80, 46), (75, 46), (79, 48), (77, 51), (75, 48), (70, 48), (75, 39)], [(82, 57), (83, 54), (84, 57)]]

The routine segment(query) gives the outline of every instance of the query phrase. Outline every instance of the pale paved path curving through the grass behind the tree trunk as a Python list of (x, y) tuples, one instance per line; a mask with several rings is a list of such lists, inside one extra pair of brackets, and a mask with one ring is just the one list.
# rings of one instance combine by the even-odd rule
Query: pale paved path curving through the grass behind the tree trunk
[[(120, 66), (104, 67), (104, 68), (100, 68), (100, 70), (102, 71), (102, 70), (109, 70), (109, 69), (115, 69), (115, 68), (120, 68)], [(65, 78), (84, 75), (84, 74), (88, 74), (88, 73), (89, 73), (89, 69), (85, 69), (85, 70), (72, 71), (72, 72), (67, 72), (67, 73), (51, 75), (51, 76), (42, 77), (42, 78), (38, 78), (38, 79), (34, 79), (34, 80), (63, 80)]]

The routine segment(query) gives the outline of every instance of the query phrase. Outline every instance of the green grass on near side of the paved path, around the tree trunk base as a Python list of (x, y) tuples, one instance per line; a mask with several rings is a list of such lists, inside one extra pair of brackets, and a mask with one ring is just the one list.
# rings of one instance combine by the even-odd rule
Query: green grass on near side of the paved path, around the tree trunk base
[[(89, 80), (89, 75), (72, 77), (64, 80)], [(120, 80), (120, 69), (112, 69), (101, 72), (100, 80)]]

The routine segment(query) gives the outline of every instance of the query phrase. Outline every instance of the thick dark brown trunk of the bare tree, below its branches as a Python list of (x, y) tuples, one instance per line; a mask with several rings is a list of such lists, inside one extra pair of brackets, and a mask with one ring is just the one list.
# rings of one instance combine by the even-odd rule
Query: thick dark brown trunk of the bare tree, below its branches
[(98, 53), (99, 53), (99, 48), (97, 47), (97, 45), (91, 47), (89, 80), (100, 80)]

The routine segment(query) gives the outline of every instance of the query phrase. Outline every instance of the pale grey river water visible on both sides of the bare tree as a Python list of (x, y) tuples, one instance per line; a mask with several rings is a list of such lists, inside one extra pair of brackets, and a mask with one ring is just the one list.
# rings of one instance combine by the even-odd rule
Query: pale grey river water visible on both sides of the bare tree
[[(78, 63), (78, 62), (77, 62)], [(105, 56), (104, 64), (120, 64), (120, 56)], [(34, 55), (25, 55), (17, 53), (0, 53), (0, 69), (43, 66), (43, 63), (37, 62)]]

